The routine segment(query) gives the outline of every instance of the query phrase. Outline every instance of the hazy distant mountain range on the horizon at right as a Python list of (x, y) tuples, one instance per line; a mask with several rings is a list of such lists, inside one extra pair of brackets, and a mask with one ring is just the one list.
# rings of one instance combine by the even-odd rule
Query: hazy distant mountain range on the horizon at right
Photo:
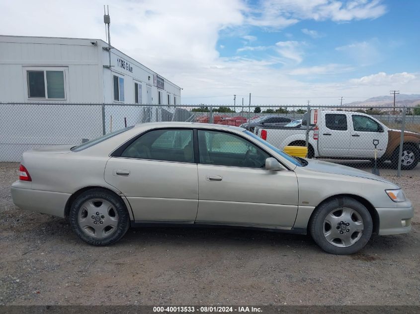
[[(419, 94), (398, 94), (396, 95), (395, 106), (397, 107), (415, 107), (420, 104)], [(343, 107), (386, 107), (394, 105), (394, 95), (377, 96), (363, 101), (353, 101), (343, 104)]]

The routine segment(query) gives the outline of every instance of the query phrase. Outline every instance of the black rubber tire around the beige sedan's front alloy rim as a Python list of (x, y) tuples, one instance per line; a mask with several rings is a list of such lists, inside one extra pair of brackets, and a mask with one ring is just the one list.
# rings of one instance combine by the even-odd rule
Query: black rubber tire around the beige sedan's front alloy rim
[[(326, 228), (325, 220), (327, 218), (327, 215), (332, 213), (334, 210), (336, 210), (336, 212), (339, 213), (340, 208), (348, 208), (350, 210), (355, 211), (357, 213), (357, 216), (362, 219), (363, 223), (363, 231), (360, 232), (358, 240), (356, 240), (353, 244), (347, 247), (338, 247), (336, 245), (339, 245), (339, 243), (334, 245), (327, 240), (326, 236), (324, 236)], [(343, 218), (338, 217), (338, 220), (342, 219)], [(339, 223), (341, 222), (342, 221), (340, 221)], [(338, 229), (338, 227), (341, 228), (341, 225), (333, 225), (331, 226), (331, 229), (332, 231), (336, 232), (336, 230), (334, 230), (333, 228)], [(359, 201), (350, 197), (337, 197), (322, 203), (315, 209), (309, 222), (309, 233), (311, 234), (314, 241), (321, 247), (321, 249), (328, 253), (338, 255), (352, 254), (361, 250), (368, 243), (370, 236), (372, 235), (372, 229), (372, 217), (370, 216), (370, 213), (367, 210), (367, 208)], [(341, 229), (338, 230), (339, 231), (337, 232), (341, 232)], [(343, 232), (345, 231), (346, 230), (343, 230)], [(348, 234), (353, 236), (354, 234), (356, 234), (356, 232), (354, 232), (354, 234), (351, 234), (351, 232), (349, 232)], [(357, 235), (358, 234), (359, 233), (357, 233)]]

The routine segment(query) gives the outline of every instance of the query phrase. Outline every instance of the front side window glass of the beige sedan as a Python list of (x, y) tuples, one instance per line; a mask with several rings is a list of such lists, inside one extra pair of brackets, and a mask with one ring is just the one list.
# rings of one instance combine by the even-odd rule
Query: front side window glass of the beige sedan
[(201, 164), (263, 168), (270, 157), (247, 139), (219, 131), (198, 130), (198, 148)]

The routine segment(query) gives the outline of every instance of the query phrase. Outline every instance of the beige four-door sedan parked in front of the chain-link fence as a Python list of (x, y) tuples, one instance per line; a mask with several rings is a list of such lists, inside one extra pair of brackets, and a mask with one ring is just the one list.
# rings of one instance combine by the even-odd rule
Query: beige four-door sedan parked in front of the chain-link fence
[(395, 184), (353, 168), (294, 158), (241, 127), (141, 124), (79, 146), (25, 152), (11, 187), (21, 209), (70, 219), (92, 245), (130, 226), (240, 226), (310, 234), (354, 253), (371, 234), (411, 230)]

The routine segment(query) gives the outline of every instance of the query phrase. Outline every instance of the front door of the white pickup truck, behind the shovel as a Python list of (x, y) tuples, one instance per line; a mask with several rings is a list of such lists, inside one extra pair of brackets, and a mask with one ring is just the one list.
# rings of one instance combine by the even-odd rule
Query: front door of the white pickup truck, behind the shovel
[(350, 154), (356, 157), (375, 157), (375, 146), (373, 140), (377, 139), (379, 144), (378, 158), (381, 157), (388, 145), (388, 132), (374, 119), (364, 115), (351, 116), (351, 140)]

